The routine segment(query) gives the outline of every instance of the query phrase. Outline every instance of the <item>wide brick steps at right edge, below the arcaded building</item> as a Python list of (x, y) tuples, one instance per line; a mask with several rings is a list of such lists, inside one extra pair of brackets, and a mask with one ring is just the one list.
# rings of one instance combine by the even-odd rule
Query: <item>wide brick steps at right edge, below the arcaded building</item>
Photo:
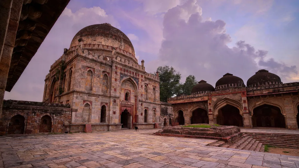
[(263, 144), (299, 149), (299, 135), (296, 134), (243, 132), (243, 135), (247, 135)]

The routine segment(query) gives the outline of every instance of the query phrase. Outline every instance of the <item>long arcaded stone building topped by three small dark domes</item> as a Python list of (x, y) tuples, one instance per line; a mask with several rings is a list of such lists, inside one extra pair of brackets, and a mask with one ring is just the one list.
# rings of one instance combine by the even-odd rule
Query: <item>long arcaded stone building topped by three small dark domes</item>
[[(298, 129), (299, 83), (285, 83), (266, 70), (258, 71), (245, 87), (243, 80), (225, 74), (215, 88), (205, 81), (191, 95), (170, 98), (173, 122)], [(192, 118), (196, 115), (196, 119)]]

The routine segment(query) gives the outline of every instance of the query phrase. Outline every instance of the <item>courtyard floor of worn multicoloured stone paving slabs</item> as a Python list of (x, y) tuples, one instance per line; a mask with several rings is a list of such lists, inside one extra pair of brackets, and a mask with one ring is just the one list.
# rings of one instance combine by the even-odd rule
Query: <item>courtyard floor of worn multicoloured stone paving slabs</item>
[(0, 137), (0, 168), (292, 167), (299, 157), (205, 146), (214, 140), (121, 130)]

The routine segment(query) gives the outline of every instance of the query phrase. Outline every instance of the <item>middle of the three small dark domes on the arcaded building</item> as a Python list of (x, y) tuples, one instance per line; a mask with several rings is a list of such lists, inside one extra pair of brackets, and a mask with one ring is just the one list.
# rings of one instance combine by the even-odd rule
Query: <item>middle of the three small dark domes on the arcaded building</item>
[(216, 82), (216, 90), (226, 88), (240, 88), (245, 87), (244, 82), (241, 78), (234, 76), (233, 74), (226, 73)]

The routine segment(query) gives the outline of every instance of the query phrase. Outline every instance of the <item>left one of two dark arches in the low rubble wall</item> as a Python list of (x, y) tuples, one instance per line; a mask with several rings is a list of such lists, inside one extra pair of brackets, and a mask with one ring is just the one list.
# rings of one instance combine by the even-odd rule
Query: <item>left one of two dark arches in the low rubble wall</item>
[(10, 119), (7, 134), (24, 134), (25, 118), (18, 114)]

